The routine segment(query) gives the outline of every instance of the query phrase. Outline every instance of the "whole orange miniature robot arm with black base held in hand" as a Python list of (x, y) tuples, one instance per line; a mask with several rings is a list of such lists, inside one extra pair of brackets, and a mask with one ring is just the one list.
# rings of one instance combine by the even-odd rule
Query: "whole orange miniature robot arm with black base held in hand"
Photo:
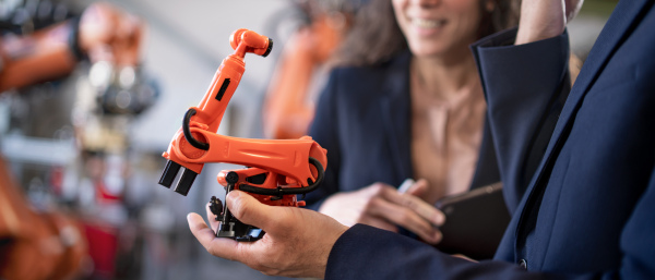
[[(240, 190), (273, 206), (303, 206), (297, 194), (315, 190), (323, 179), (326, 150), (309, 136), (299, 139), (250, 139), (218, 135), (218, 125), (234, 95), (246, 64), (247, 52), (266, 57), (273, 40), (247, 29), (230, 36), (235, 52), (225, 58), (198, 107), (184, 114), (182, 127), (175, 134), (164, 157), (168, 159), (159, 184), (170, 187), (181, 167), (184, 171), (175, 192), (187, 195), (204, 163), (226, 162), (246, 166), (241, 170), (222, 171), (218, 183), (226, 192)], [(254, 241), (263, 232), (235, 219), (227, 206), (212, 197), (211, 209), (221, 221), (216, 236)]]

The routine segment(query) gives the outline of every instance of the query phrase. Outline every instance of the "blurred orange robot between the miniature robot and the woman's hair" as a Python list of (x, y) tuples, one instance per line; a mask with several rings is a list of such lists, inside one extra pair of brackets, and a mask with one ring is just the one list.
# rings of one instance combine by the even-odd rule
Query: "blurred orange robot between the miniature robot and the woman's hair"
[[(335, 2), (335, 1), (326, 1)], [(290, 139), (307, 134), (314, 115), (320, 68), (342, 41), (354, 13), (352, 0), (340, 7), (325, 7), (322, 1), (300, 1), (308, 22), (291, 35), (271, 78), (263, 108), (264, 136)]]

